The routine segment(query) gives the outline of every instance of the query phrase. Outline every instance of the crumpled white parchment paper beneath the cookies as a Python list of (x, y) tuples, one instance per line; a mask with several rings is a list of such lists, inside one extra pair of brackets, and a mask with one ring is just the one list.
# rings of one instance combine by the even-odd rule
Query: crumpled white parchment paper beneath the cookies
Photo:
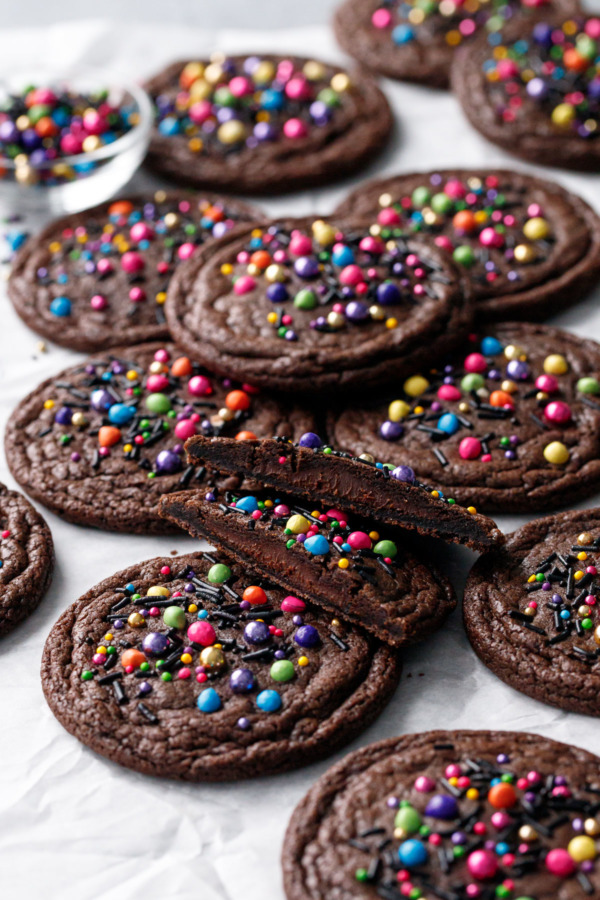
[[(257, 4), (253, 4), (256, 6)], [(287, 4), (285, 4), (287, 5)], [(268, 6), (268, 4), (265, 4)], [(36, 32), (4, 31), (2, 65), (78, 58), (132, 77), (174, 57), (214, 48), (306, 53), (341, 59), (325, 28), (256, 33), (144, 26), (124, 32), (101, 22)], [(371, 173), (443, 166), (504, 165), (511, 160), (474, 133), (451, 96), (386, 82), (398, 131)], [(529, 167), (530, 170), (531, 167)], [(600, 209), (600, 178), (544, 170)], [(143, 176), (135, 187), (150, 184)], [(328, 212), (345, 187), (265, 203), (273, 213)], [(39, 223), (38, 223), (39, 224)], [(554, 320), (600, 339), (596, 292)], [(37, 349), (0, 285), (0, 430), (16, 403), (77, 354)], [(559, 350), (560, 348), (555, 348)], [(600, 374), (600, 373), (597, 373)], [(0, 454), (0, 479), (15, 483)], [(592, 497), (582, 506), (599, 502)], [(43, 510), (42, 510), (43, 512)], [(330, 760), (254, 782), (183, 785), (152, 780), (94, 755), (48, 710), (39, 663), (60, 612), (91, 585), (140, 560), (198, 546), (189, 538), (110, 535), (46, 514), (56, 544), (53, 586), (39, 610), (0, 644), (0, 893), (44, 900), (282, 900), (279, 854), (294, 805)], [(504, 530), (524, 519), (500, 517)], [(460, 588), (473, 556), (448, 551)], [(383, 715), (348, 750), (428, 728), (531, 730), (600, 751), (598, 721), (536, 703), (498, 681), (476, 659), (460, 615), (425, 646), (406, 653), (400, 687)], [(338, 758), (342, 754), (338, 754)]]

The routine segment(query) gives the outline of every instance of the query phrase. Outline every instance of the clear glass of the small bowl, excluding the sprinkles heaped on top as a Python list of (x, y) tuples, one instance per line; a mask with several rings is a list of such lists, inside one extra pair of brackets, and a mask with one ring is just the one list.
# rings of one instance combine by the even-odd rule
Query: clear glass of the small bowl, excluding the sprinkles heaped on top
[(138, 85), (114, 84), (100, 71), (78, 70), (66, 76), (32, 71), (0, 77), (0, 102), (21, 95), (31, 84), (59, 91), (70, 89), (82, 95), (106, 91), (109, 103), (127, 107), (137, 121), (112, 143), (87, 153), (60, 155), (39, 165), (29, 159), (15, 162), (0, 155), (2, 215), (50, 218), (108, 200), (129, 181), (146, 155), (153, 121), (150, 98)]

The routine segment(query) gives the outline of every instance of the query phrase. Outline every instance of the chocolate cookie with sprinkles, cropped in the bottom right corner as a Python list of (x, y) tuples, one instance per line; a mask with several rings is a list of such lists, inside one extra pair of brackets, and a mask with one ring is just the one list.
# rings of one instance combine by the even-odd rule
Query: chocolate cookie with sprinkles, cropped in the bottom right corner
[(287, 900), (582, 900), (600, 892), (600, 759), (511, 731), (346, 756), (296, 807)]

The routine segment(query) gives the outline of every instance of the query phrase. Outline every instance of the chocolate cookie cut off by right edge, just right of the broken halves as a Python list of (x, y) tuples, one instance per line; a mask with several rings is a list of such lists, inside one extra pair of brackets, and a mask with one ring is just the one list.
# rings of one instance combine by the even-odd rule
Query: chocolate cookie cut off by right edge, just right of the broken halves
[(600, 716), (600, 510), (528, 522), (475, 564), (464, 619), (477, 655), (543, 703)]

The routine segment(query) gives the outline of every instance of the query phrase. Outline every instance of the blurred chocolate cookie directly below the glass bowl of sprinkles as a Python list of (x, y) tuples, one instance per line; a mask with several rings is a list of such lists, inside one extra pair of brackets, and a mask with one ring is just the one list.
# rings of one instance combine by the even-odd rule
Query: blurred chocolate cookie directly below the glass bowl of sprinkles
[(179, 263), (235, 222), (260, 218), (239, 200), (206, 193), (103, 203), (30, 238), (12, 265), (8, 294), (30, 328), (73, 350), (165, 340), (163, 304)]

